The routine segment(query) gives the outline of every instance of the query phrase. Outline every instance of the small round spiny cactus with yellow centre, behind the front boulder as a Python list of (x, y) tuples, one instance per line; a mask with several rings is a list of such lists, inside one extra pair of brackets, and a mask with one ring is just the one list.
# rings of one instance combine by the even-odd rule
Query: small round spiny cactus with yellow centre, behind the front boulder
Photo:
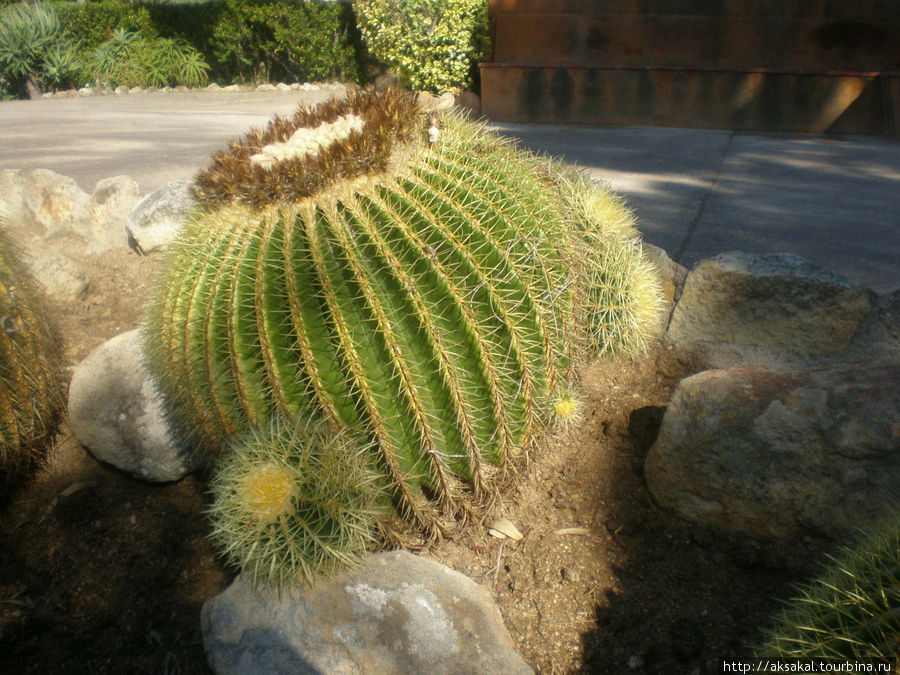
[(375, 544), (379, 516), (367, 450), (311, 420), (250, 431), (213, 479), (213, 539), (276, 586), (354, 563)]

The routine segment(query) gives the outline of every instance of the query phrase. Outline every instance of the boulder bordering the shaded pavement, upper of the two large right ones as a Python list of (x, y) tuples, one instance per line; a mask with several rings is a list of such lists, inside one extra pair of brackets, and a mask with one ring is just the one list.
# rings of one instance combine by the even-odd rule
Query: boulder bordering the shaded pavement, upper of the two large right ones
[(874, 294), (788, 254), (723, 253), (690, 271), (667, 340), (708, 367), (798, 367), (846, 347)]

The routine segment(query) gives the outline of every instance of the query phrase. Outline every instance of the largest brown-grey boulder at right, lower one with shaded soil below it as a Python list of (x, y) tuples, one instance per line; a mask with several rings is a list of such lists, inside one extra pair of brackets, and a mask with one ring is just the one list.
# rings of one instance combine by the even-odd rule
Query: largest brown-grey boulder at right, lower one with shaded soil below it
[(664, 508), (718, 528), (846, 536), (897, 504), (898, 430), (896, 362), (705, 371), (675, 390), (647, 486)]

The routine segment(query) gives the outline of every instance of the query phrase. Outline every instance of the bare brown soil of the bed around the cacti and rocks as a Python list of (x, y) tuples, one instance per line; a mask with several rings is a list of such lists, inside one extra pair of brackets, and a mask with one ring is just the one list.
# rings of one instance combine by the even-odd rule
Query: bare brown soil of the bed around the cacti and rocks
[[(80, 261), (87, 296), (51, 307), (70, 367), (137, 325), (160, 265)], [(541, 442), (500, 509), (524, 537), (470, 528), (421, 552), (491, 591), (537, 672), (722, 672), (829, 548), (709, 531), (654, 504), (643, 460), (692, 369), (665, 350), (586, 369), (581, 423)], [(235, 571), (207, 540), (206, 501), (203, 476), (140, 482), (64, 426), (0, 514), (0, 672), (210, 672), (200, 608)]]

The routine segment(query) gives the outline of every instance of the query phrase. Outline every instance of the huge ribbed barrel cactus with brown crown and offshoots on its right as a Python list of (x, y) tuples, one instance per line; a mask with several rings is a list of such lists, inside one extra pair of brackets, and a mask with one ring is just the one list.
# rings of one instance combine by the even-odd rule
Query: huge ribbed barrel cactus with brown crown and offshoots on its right
[(659, 323), (608, 191), (400, 90), (275, 118), (195, 192), (145, 326), (183, 428), (213, 455), (278, 420), (353, 429), (432, 536), (493, 500), (576, 360)]

